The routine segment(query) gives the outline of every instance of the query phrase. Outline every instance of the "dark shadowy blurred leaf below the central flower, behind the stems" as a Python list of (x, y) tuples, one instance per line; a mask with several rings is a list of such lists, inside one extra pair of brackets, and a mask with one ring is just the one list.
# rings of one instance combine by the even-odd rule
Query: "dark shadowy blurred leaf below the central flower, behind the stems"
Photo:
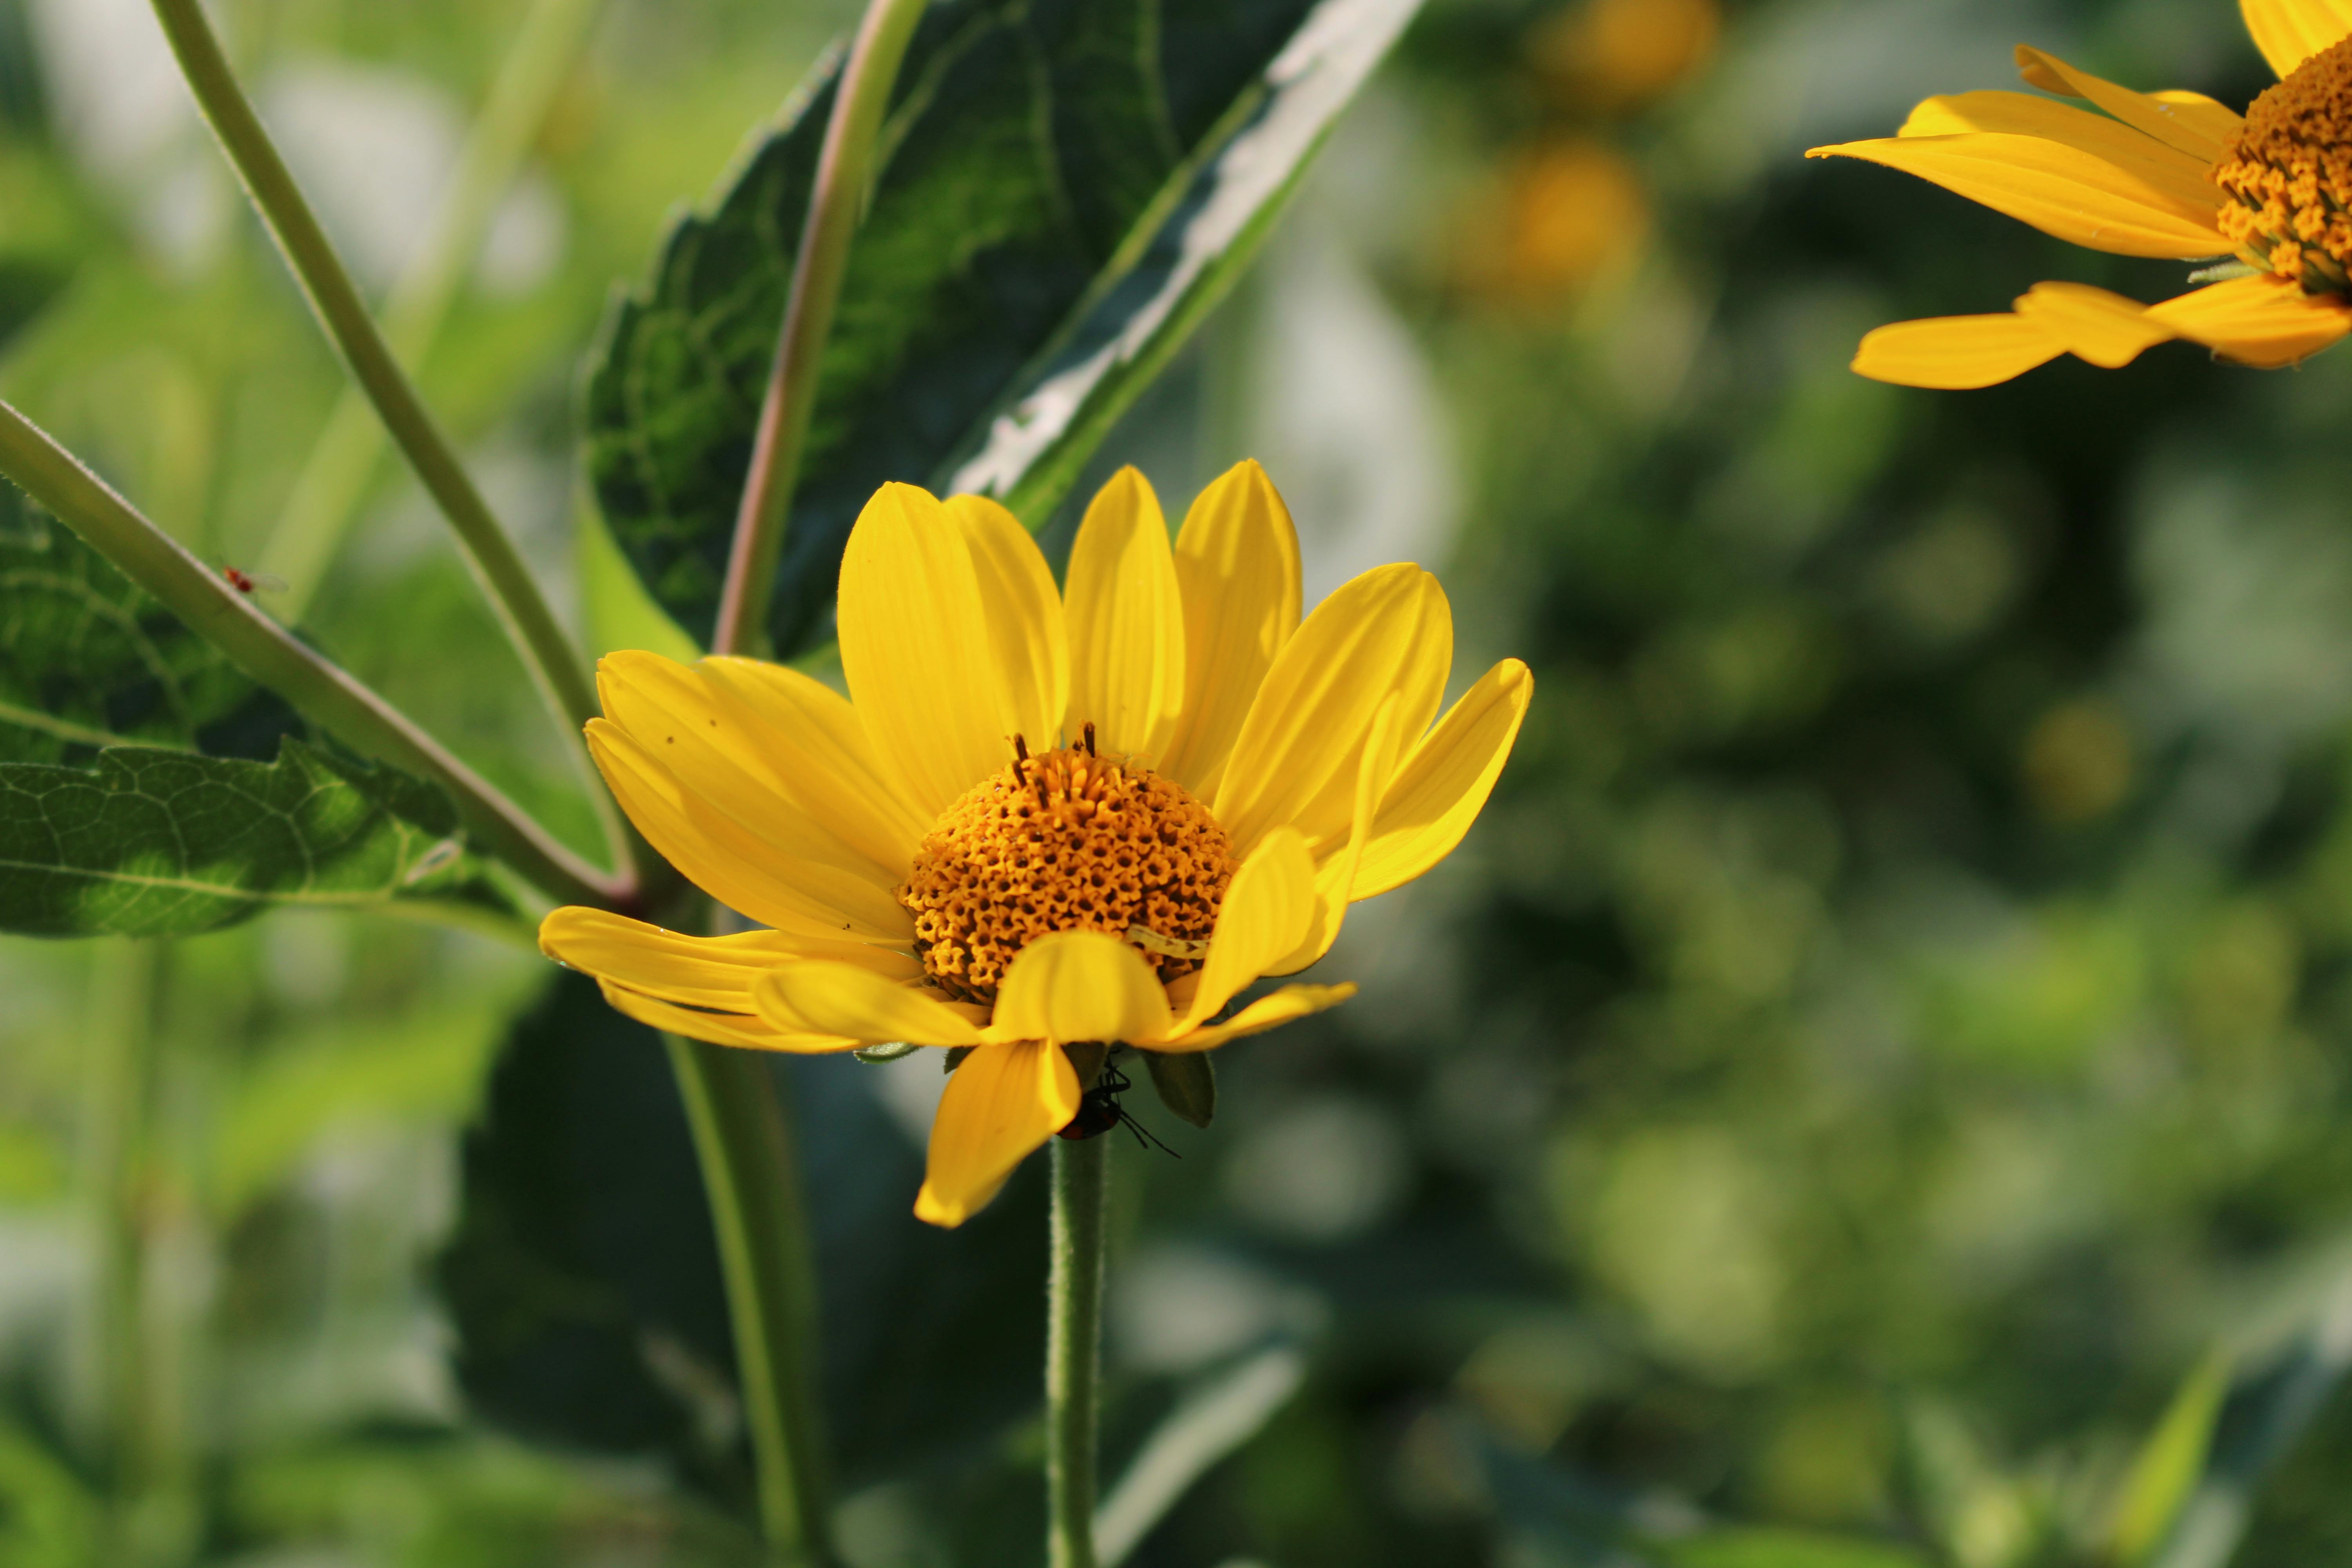
[[(1037, 1399), (1042, 1185), (969, 1225), (913, 1218), (922, 1154), (851, 1060), (774, 1058), (795, 1105), (823, 1281), (823, 1387), (847, 1483), (993, 1436)], [(741, 1505), (734, 1345), (661, 1037), (560, 976), (466, 1138), (440, 1265), (475, 1408), (569, 1448), (663, 1453)]]

